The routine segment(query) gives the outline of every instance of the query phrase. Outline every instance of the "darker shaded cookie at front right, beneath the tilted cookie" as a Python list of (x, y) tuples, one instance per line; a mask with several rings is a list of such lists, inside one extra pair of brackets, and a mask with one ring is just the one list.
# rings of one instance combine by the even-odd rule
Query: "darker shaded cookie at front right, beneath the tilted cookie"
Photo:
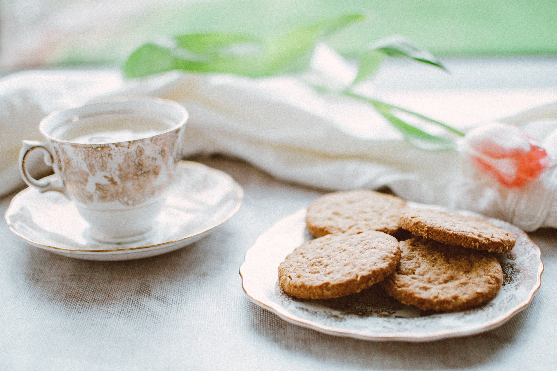
[(495, 256), (415, 237), (400, 242), (400, 263), (381, 286), (421, 310), (458, 311), (495, 298), (502, 281)]

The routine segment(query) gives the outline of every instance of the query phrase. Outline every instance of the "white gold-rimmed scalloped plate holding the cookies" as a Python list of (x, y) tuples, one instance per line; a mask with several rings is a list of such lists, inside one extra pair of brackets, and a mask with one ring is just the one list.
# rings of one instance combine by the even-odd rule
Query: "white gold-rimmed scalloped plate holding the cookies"
[(481, 217), (517, 236), (510, 253), (495, 254), (503, 269), (503, 286), (495, 299), (480, 308), (424, 313), (390, 298), (377, 285), (338, 299), (303, 300), (289, 296), (278, 285), (277, 270), (286, 255), (313, 238), (305, 228), (306, 209), (278, 221), (247, 251), (240, 267), (243, 289), (255, 304), (282, 319), (331, 335), (426, 342), (494, 329), (524, 309), (538, 290), (544, 269), (540, 249), (524, 231), (505, 221), (466, 211), (461, 214)]

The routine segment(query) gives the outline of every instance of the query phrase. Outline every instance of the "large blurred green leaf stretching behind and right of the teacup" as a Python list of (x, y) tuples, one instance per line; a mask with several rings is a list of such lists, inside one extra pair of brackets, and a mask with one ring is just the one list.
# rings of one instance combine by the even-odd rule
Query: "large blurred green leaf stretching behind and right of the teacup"
[(294, 29), (266, 42), (225, 33), (182, 35), (174, 38), (173, 46), (154, 43), (141, 46), (124, 63), (123, 72), (126, 77), (169, 70), (263, 77), (301, 71), (307, 69), (317, 41), (361, 19), (365, 17), (348, 14)]

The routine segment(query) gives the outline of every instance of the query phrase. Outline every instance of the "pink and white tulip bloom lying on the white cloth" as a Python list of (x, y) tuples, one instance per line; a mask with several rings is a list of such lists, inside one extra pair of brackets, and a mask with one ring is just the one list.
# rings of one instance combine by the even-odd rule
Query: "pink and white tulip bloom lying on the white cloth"
[(538, 141), (516, 126), (498, 122), (473, 128), (461, 148), (476, 169), (510, 189), (538, 179), (551, 162)]

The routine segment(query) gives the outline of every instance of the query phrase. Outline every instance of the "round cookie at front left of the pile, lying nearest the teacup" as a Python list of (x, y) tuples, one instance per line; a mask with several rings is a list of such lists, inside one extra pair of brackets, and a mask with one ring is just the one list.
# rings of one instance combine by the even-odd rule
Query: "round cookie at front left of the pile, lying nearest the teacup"
[(330, 234), (298, 246), (278, 266), (278, 283), (302, 299), (358, 293), (393, 273), (398, 241), (383, 232)]

